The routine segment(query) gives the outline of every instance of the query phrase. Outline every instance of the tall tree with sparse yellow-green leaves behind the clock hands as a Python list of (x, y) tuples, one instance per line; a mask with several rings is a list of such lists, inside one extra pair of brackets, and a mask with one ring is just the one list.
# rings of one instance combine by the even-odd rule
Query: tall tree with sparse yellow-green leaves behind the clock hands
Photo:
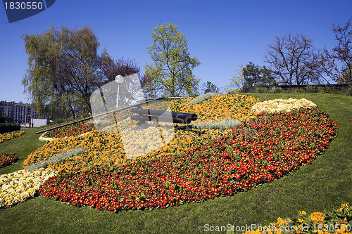
[(153, 95), (194, 96), (197, 94), (199, 79), (192, 69), (201, 63), (191, 58), (187, 39), (178, 32), (178, 27), (170, 23), (153, 28), (153, 44), (148, 53), (153, 63), (145, 65), (145, 77), (149, 77), (144, 87), (153, 91)]

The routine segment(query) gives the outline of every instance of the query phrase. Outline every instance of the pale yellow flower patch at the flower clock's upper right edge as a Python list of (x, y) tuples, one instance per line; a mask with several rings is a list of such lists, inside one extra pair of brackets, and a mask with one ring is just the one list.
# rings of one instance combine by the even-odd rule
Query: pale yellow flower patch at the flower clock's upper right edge
[(254, 112), (289, 112), (298, 108), (314, 108), (315, 105), (310, 100), (305, 98), (302, 99), (275, 99), (275, 100), (266, 100), (261, 103), (256, 103), (252, 106), (251, 110)]

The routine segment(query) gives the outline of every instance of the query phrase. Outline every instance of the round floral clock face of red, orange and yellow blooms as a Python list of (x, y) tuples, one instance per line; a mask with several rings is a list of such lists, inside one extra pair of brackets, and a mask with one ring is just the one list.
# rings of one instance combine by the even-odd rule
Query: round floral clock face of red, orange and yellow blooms
[[(127, 159), (118, 133), (93, 126), (82, 136), (61, 138), (66, 130), (54, 131), (24, 165), (80, 148), (82, 153), (48, 164), (58, 175), (47, 179), (40, 194), (111, 211), (165, 208), (281, 178), (310, 164), (337, 134), (337, 124), (308, 100), (263, 103), (234, 94), (194, 99), (168, 104), (173, 111), (198, 115), (197, 128), (175, 131), (168, 144), (140, 157)], [(76, 127), (81, 129), (68, 131)], [(139, 137), (134, 141), (143, 141)]]

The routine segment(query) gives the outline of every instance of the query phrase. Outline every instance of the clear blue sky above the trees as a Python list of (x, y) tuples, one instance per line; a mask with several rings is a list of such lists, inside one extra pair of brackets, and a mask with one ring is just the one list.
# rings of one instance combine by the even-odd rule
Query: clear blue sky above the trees
[(27, 102), (21, 35), (42, 34), (50, 25), (91, 27), (99, 53), (105, 47), (113, 58), (134, 59), (143, 70), (151, 62), (146, 47), (152, 44), (153, 27), (172, 22), (188, 39), (191, 56), (201, 62), (196, 77), (224, 86), (240, 63), (267, 65), (264, 55), (277, 35), (307, 34), (315, 47), (331, 49), (337, 44), (332, 24), (345, 25), (351, 9), (351, 0), (56, 0), (42, 13), (8, 23), (0, 6), (0, 100)]

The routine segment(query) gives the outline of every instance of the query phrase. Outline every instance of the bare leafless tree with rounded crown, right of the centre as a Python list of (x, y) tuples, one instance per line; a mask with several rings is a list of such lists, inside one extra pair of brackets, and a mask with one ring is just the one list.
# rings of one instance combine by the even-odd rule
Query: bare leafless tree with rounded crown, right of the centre
[(270, 70), (280, 83), (300, 85), (320, 81), (318, 53), (312, 43), (312, 39), (302, 34), (275, 37), (265, 63), (270, 63)]

